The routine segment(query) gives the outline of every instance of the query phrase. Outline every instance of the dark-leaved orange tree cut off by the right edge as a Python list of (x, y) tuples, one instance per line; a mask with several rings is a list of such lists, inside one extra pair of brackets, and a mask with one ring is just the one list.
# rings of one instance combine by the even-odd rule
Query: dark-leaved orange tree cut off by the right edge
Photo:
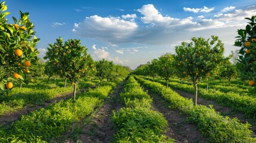
[(251, 18), (245, 18), (249, 20), (245, 29), (239, 29), (238, 35), (235, 41), (235, 46), (240, 46), (238, 69), (240, 70), (240, 77), (242, 79), (248, 79), (249, 85), (254, 86), (256, 78), (256, 15)]

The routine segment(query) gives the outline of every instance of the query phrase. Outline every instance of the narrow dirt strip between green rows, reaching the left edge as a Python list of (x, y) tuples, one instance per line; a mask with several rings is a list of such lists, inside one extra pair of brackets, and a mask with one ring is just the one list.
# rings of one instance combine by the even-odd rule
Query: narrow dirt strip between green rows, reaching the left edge
[(26, 107), (22, 108), (21, 110), (17, 110), (11, 113), (5, 113), (0, 117), (0, 125), (6, 125), (8, 123), (14, 122), (15, 120), (18, 120), (22, 115), (29, 114), (30, 112), (34, 110), (38, 110), (40, 108), (45, 108), (48, 105), (52, 104), (53, 102), (58, 102), (60, 100), (66, 100), (67, 98), (71, 97), (71, 93), (69, 94), (59, 94), (53, 99), (50, 100), (50, 102), (44, 102), (43, 105), (26, 105)]

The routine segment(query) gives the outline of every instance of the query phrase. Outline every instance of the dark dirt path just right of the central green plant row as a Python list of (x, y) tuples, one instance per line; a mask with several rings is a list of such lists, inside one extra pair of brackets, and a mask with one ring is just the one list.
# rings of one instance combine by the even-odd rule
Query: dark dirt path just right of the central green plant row
[(207, 138), (204, 138), (196, 129), (195, 124), (187, 123), (185, 120), (187, 116), (184, 116), (180, 111), (168, 108), (168, 102), (166, 102), (161, 95), (148, 92), (150, 97), (153, 98), (153, 108), (160, 113), (164, 114), (165, 119), (168, 121), (168, 130), (165, 135), (174, 138), (176, 142), (207, 142)]

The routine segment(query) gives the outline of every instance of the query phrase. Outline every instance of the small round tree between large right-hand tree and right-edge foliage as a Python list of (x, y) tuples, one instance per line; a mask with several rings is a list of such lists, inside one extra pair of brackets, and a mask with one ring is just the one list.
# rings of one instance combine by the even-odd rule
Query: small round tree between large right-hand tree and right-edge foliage
[(238, 76), (238, 71), (236, 69), (236, 66), (232, 64), (230, 61), (226, 61), (226, 63), (223, 65), (222, 68), (223, 70), (220, 73), (220, 76), (229, 80), (229, 86), (230, 86), (231, 79), (234, 79), (235, 77)]

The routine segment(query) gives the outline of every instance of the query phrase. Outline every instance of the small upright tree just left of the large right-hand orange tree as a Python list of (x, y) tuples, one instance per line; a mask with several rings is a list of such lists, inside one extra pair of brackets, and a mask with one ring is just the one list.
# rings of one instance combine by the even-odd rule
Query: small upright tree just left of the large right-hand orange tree
[(162, 55), (158, 58), (158, 75), (166, 81), (166, 87), (169, 85), (169, 78), (174, 75), (174, 56), (170, 54)]

